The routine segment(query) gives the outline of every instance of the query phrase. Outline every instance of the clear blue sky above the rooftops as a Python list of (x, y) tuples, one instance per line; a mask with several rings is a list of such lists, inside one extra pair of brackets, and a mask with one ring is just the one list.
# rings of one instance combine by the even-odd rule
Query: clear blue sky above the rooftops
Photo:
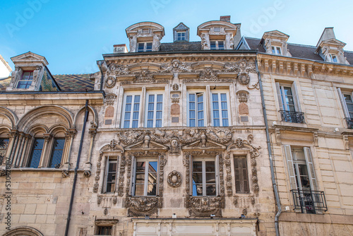
[(0, 4), (0, 54), (13, 68), (11, 57), (31, 51), (47, 58), (53, 74), (93, 73), (102, 54), (113, 45), (128, 45), (125, 29), (141, 21), (164, 26), (162, 42), (172, 42), (180, 22), (199, 41), (198, 25), (220, 16), (241, 23), (241, 33), (262, 37), (280, 30), (288, 42), (316, 45), (325, 27), (334, 27), (337, 40), (353, 51), (353, 1), (54, 1), (10, 0)]

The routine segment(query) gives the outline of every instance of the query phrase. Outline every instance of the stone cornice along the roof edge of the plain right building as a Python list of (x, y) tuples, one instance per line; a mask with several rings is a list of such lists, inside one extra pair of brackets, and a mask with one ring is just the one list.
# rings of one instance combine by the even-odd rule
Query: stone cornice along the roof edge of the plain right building
[(258, 68), (262, 73), (277, 73), (285, 76), (313, 77), (313, 73), (335, 76), (353, 76), (353, 66), (313, 61), (296, 57), (281, 57), (258, 54)]

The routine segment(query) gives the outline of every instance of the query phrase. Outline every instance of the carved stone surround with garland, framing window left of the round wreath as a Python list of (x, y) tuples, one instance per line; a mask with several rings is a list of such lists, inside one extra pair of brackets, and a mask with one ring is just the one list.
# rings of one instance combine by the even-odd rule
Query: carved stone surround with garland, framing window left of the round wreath
[[(140, 155), (144, 152), (133, 152), (128, 155), (128, 179), (126, 183), (126, 199), (125, 207), (128, 208), (128, 216), (151, 216), (154, 213), (157, 213), (158, 208), (163, 206), (163, 179), (164, 179), (164, 166), (167, 163), (167, 160), (164, 160), (164, 155), (159, 155), (159, 195), (158, 196), (128, 196), (130, 191), (130, 182), (131, 182), (131, 161), (132, 155)], [(157, 152), (150, 152), (148, 154), (154, 155)]]

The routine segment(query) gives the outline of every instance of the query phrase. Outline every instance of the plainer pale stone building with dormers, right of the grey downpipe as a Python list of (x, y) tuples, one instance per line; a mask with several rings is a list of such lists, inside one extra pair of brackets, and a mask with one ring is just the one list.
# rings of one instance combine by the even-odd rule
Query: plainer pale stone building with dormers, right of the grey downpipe
[(238, 47), (258, 49), (280, 235), (352, 235), (353, 53), (333, 28), (316, 47), (288, 38), (274, 30)]

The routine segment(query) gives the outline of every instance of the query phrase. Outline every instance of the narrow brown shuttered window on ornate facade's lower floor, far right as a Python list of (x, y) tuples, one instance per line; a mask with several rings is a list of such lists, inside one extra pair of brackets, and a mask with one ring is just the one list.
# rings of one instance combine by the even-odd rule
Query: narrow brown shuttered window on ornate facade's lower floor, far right
[(234, 158), (235, 191), (239, 194), (249, 193), (249, 176), (246, 156)]

